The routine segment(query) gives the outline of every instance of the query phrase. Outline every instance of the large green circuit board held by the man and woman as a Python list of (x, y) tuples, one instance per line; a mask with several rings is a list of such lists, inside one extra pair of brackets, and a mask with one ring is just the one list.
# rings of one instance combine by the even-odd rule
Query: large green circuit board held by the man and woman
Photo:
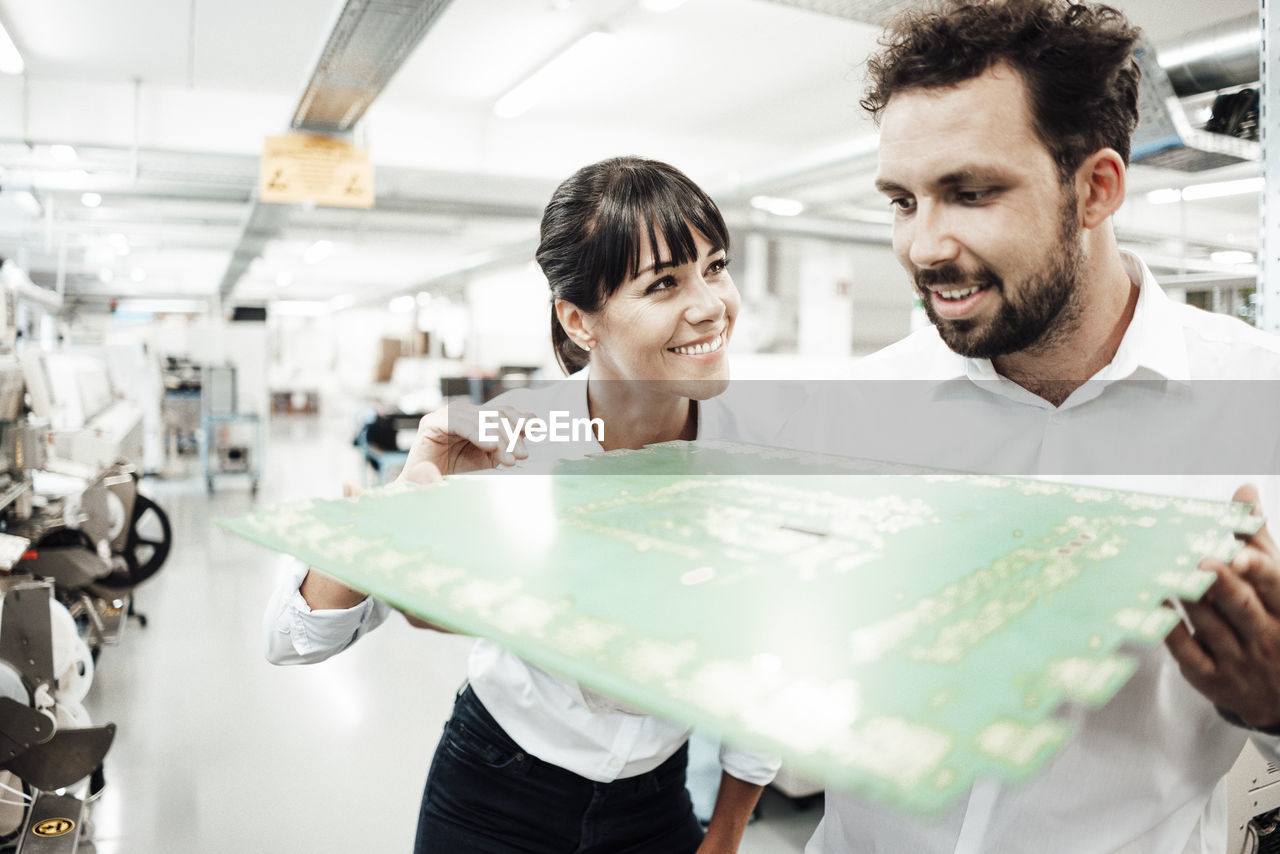
[(934, 813), (977, 778), (1034, 775), (1070, 736), (1055, 711), (1120, 689), (1119, 647), (1164, 639), (1161, 603), (1203, 594), (1199, 558), (1229, 560), (1261, 525), (1249, 510), (675, 442), (220, 524), (627, 705)]

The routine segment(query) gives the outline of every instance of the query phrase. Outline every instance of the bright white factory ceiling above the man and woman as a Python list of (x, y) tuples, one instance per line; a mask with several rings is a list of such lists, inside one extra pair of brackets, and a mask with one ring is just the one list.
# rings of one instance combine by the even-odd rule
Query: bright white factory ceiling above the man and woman
[[(257, 183), (342, 10), (337, 0), (0, 0), (27, 60), (0, 76), (0, 255), (68, 294), (212, 297)], [(1256, 13), (1256, 0), (1119, 0), (1157, 46)], [(570, 68), (529, 113), (494, 101), (594, 28), (607, 54)], [(874, 129), (858, 108), (878, 28), (769, 0), (453, 0), (357, 125), (376, 165), (371, 211), (285, 211), (232, 302), (378, 301), (527, 259), (559, 178), (616, 154), (669, 160), (732, 222), (882, 239)], [(54, 159), (69, 143), (78, 159)], [(1219, 170), (1256, 175), (1252, 164)], [(1152, 252), (1169, 238), (1257, 245), (1252, 197), (1144, 206), (1190, 177), (1135, 168), (1119, 218)], [(32, 205), (20, 191), (28, 191)], [(99, 207), (81, 196), (95, 191)], [(795, 220), (750, 211), (786, 195)], [(120, 237), (123, 236), (123, 237)], [(319, 262), (303, 259), (332, 243)], [(127, 248), (125, 248), (127, 245)]]

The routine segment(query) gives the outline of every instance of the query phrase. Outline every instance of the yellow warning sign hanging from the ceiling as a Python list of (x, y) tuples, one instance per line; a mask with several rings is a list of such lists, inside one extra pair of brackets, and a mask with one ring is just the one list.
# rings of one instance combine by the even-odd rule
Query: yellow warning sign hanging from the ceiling
[(294, 133), (266, 137), (257, 198), (311, 201), (330, 207), (374, 206), (374, 164), (369, 151), (330, 137)]

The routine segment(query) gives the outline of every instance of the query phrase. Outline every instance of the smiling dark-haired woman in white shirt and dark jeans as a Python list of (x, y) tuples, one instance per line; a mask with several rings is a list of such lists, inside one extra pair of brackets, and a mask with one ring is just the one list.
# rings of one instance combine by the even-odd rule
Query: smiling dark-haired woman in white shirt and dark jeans
[[(727, 251), (719, 210), (680, 170), (617, 157), (576, 172), (553, 193), (538, 248), (550, 287), (552, 341), (572, 375), (547, 388), (508, 392), (484, 407), (451, 405), (428, 415), (401, 479), (434, 480), (521, 461), (550, 465), (672, 439), (769, 443), (769, 428), (753, 421), (749, 433), (748, 419), (735, 417), (719, 397), (728, 385), (726, 348), (739, 311)], [(557, 433), (550, 426), (557, 424), (593, 426)], [(536, 549), (553, 536), (556, 520), (527, 531), (521, 526), (529, 519), (495, 511), (485, 521), (508, 534), (518, 530)], [(321, 661), (388, 612), (383, 602), (300, 570), (269, 607), (268, 657)], [(780, 764), (723, 745), (704, 839), (685, 789), (686, 727), (600, 697), (484, 639), (471, 654), (468, 682), (428, 776), (419, 854), (736, 851)]]

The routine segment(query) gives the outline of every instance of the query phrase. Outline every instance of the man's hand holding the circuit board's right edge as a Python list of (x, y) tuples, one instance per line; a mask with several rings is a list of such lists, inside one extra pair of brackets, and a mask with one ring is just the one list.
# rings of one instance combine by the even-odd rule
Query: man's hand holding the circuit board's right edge
[[(1233, 498), (1261, 515), (1253, 485)], [(1280, 549), (1263, 526), (1230, 566), (1206, 560), (1201, 567), (1217, 581), (1199, 602), (1184, 603), (1196, 634), (1179, 625), (1165, 644), (1196, 690), (1244, 723), (1270, 730), (1280, 725)]]

